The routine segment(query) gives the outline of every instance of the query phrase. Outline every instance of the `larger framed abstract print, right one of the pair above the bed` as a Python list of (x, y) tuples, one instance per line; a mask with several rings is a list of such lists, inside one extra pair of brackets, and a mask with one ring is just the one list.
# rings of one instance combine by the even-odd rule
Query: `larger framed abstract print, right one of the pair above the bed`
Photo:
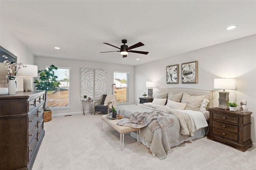
[(198, 61), (182, 63), (182, 83), (198, 83)]

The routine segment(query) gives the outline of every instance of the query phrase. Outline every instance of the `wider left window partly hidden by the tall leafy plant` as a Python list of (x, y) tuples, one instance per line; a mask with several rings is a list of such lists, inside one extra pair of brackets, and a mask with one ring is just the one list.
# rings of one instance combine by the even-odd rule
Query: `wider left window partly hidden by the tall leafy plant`
[[(58, 66), (56, 66), (58, 67)], [(48, 69), (48, 66), (46, 66)], [(47, 91), (47, 101), (46, 107), (50, 109), (69, 109), (70, 108), (70, 68), (58, 67), (58, 70), (54, 70), (54, 75), (58, 78), (56, 79), (61, 83), (55, 91)]]

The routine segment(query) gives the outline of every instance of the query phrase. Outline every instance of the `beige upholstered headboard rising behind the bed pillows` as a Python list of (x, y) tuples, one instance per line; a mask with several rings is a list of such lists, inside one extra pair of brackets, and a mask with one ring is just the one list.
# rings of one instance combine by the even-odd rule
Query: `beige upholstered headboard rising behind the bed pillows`
[(168, 88), (168, 89), (159, 89), (159, 93), (171, 92), (172, 94), (177, 94), (180, 92), (185, 92), (191, 96), (205, 96), (210, 102), (208, 103), (207, 108), (213, 107), (213, 91), (212, 90), (199, 90), (199, 89), (186, 89), (186, 88)]

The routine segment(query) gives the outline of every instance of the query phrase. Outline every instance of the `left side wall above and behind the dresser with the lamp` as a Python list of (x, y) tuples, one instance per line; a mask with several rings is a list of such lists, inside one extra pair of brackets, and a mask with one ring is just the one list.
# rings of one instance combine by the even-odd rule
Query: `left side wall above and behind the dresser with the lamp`
[[(17, 56), (17, 62), (34, 65), (34, 55), (3, 25), (0, 29), (0, 45)], [(23, 91), (23, 77), (17, 77), (16, 91)]]

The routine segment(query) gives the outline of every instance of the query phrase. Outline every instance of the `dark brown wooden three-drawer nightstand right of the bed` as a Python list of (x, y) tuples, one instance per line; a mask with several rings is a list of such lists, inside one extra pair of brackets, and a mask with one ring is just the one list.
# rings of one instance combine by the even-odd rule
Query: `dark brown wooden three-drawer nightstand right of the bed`
[(209, 108), (208, 111), (210, 111), (208, 139), (218, 140), (242, 151), (252, 147), (250, 139), (252, 112), (232, 112), (217, 108)]

